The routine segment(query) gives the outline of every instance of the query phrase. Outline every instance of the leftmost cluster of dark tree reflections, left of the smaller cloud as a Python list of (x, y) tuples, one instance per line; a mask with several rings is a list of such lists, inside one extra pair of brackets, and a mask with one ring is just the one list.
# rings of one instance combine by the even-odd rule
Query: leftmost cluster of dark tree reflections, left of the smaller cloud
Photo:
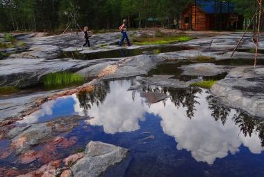
[(96, 104), (103, 104), (106, 99), (106, 95), (110, 93), (109, 82), (101, 82), (98, 84), (94, 90), (90, 92), (81, 92), (77, 94), (77, 98), (80, 102), (80, 107), (83, 108), (83, 113), (88, 116), (88, 110)]

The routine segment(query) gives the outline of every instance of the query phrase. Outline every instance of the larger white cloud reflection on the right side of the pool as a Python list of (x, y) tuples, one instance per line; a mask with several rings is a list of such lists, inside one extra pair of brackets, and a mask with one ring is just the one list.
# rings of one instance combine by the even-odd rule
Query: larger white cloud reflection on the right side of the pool
[(175, 138), (177, 149), (190, 151), (192, 157), (198, 162), (213, 164), (216, 158), (223, 158), (228, 153), (237, 153), (243, 144), (247, 146), (251, 153), (261, 153), (261, 140), (256, 134), (245, 137), (240, 133), (240, 128), (232, 121), (235, 111), (227, 118), (226, 124), (215, 121), (208, 111), (206, 93), (199, 96), (200, 105), (197, 105), (195, 116), (190, 120), (185, 115), (183, 107), (176, 107), (168, 100), (166, 107), (162, 103), (151, 106), (150, 111), (162, 118), (161, 126), (166, 134)]

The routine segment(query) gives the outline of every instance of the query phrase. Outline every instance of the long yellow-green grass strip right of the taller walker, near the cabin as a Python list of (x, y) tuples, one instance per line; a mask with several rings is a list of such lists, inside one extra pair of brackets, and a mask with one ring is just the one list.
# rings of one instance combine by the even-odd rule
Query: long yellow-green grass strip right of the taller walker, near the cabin
[(165, 36), (165, 37), (152, 37), (152, 38), (133, 38), (134, 45), (163, 45), (178, 42), (186, 42), (194, 39), (192, 36)]

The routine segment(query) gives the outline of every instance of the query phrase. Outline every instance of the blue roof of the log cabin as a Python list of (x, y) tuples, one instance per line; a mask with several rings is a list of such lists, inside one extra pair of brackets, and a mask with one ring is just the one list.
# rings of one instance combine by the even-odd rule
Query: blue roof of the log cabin
[[(195, 1), (194, 1), (195, 2)], [(196, 0), (197, 6), (206, 14), (220, 13), (220, 2), (216, 0)], [(234, 4), (222, 2), (222, 13), (234, 13)]]

